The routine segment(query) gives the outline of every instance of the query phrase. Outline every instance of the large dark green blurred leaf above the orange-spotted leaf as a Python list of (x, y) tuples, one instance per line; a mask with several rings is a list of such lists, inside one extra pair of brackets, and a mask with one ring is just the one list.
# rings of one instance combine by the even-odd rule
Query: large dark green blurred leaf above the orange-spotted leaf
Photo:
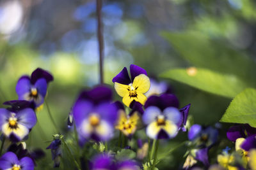
[(193, 66), (219, 73), (236, 74), (244, 81), (256, 84), (255, 61), (244, 53), (230, 48), (227, 43), (213, 40), (202, 32), (161, 32), (161, 36)]

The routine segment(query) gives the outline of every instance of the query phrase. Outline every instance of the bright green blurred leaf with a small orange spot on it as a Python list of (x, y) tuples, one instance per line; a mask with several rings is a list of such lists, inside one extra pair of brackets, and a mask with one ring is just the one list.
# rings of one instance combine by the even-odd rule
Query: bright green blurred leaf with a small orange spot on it
[(160, 76), (229, 98), (235, 97), (236, 94), (248, 88), (246, 83), (232, 74), (221, 74), (195, 67), (190, 69), (171, 69)]

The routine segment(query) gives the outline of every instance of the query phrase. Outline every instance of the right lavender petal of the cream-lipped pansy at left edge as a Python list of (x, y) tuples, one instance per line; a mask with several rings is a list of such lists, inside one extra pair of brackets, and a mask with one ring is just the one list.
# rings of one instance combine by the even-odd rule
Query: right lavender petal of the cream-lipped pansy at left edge
[(20, 110), (16, 115), (19, 124), (26, 126), (28, 129), (31, 129), (37, 122), (36, 113), (31, 108), (26, 108)]

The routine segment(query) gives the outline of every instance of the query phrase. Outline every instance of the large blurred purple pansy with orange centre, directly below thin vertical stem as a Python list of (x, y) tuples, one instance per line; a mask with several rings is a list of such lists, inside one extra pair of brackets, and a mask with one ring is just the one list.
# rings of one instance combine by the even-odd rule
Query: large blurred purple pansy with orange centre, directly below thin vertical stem
[(81, 145), (86, 139), (108, 141), (113, 136), (117, 108), (111, 104), (112, 92), (100, 86), (85, 90), (73, 107), (74, 121)]

